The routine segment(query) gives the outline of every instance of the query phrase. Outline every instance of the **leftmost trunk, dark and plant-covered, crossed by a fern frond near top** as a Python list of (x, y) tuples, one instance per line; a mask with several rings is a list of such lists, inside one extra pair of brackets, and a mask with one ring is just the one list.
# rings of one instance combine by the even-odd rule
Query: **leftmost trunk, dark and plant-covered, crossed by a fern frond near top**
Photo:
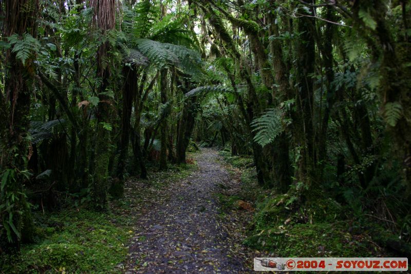
[[(3, 4), (3, 3), (2, 3)], [(29, 33), (36, 37), (38, 0), (5, 1), (4, 37)], [(32, 237), (30, 210), (24, 194), (28, 179), (27, 162), (30, 95), (33, 91), (35, 53), (25, 64), (10, 50), (6, 54), (5, 96), (0, 97), (0, 247), (4, 252), (20, 249), (22, 240)]]

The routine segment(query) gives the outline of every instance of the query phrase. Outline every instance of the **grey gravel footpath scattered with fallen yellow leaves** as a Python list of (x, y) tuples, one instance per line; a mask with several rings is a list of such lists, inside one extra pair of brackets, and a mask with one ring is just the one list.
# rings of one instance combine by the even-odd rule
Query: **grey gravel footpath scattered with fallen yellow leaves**
[(199, 169), (159, 191), (165, 198), (137, 220), (126, 273), (253, 272), (245, 266), (254, 256), (241, 245), (241, 224), (219, 215), (216, 194), (232, 180), (218, 157), (201, 149)]

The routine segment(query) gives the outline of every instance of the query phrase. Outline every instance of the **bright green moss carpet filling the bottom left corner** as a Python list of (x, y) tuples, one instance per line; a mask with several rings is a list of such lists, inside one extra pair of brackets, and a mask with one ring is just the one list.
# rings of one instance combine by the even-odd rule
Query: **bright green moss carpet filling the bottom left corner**
[[(38, 233), (48, 235), (38, 244), (24, 245), (15, 263), (4, 262), (6, 272), (45, 272), (63, 269), (67, 272), (114, 271), (127, 255), (131, 233), (118, 216), (88, 210), (67, 210), (49, 215), (48, 224)], [(6, 260), (6, 258), (3, 258)]]

